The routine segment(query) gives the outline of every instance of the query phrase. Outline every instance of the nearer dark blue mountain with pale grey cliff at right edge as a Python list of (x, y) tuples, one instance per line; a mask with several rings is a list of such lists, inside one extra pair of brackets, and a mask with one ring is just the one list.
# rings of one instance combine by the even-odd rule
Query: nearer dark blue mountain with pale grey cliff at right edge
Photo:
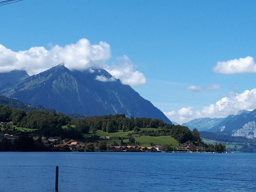
[(232, 136), (256, 137), (256, 109), (253, 111), (238, 111), (237, 115), (229, 115), (218, 125), (208, 131)]

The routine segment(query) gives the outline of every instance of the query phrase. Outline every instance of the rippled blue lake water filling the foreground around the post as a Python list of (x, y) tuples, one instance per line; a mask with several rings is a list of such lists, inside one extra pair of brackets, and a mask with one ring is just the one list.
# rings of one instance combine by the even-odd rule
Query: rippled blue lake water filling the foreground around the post
[[(59, 165), (255, 180), (256, 154), (0, 152), (3, 165)], [(255, 180), (256, 182), (256, 180)], [(59, 168), (59, 191), (256, 191), (256, 183)], [(55, 167), (0, 167), (0, 191), (55, 191)]]

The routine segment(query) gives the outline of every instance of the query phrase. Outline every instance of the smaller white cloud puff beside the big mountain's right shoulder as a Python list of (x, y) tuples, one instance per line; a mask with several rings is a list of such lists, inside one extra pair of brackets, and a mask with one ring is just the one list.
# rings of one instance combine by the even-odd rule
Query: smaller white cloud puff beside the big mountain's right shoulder
[(123, 84), (138, 86), (147, 82), (144, 74), (134, 69), (133, 63), (126, 55), (117, 58), (117, 63), (106, 67), (106, 70)]

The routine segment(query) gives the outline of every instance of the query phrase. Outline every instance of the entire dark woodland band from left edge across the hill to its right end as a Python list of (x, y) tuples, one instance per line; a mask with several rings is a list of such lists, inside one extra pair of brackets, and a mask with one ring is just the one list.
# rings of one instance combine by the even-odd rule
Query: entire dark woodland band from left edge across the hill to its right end
[[(134, 131), (134, 134), (162, 136), (170, 135), (179, 143), (196, 141), (201, 143), (201, 138), (197, 130), (190, 131), (181, 125), (164, 123), (160, 119), (152, 118), (126, 118), (124, 114), (90, 116), (84, 119), (71, 119), (67, 115), (56, 112), (34, 110), (26, 112), (22, 109), (14, 109), (0, 105), (0, 122), (10, 122), (16, 127), (24, 127), (35, 130), (39, 136), (62, 136), (63, 139), (84, 140), (82, 134), (89, 131), (95, 133), (97, 130), (112, 133), (118, 130), (123, 132)], [(66, 127), (63, 129), (63, 125)], [(142, 131), (142, 128), (158, 128), (154, 131)], [(4, 123), (3, 129), (12, 128), (10, 124)], [(37, 131), (36, 131), (37, 130)], [(14, 130), (15, 131), (15, 130)], [(13, 133), (10, 133), (13, 134)], [(95, 137), (95, 138), (94, 138)], [(92, 140), (97, 136), (91, 136)], [(87, 138), (88, 139), (88, 138)]]

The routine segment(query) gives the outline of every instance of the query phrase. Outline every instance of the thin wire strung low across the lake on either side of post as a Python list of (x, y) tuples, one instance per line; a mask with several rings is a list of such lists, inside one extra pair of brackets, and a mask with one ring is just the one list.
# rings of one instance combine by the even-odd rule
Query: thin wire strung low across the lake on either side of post
[[(56, 167), (56, 166), (55, 165), (0, 165), (0, 167)], [(123, 172), (123, 173), (164, 175), (164, 176), (175, 176), (175, 177), (190, 177), (190, 178), (199, 178), (199, 179), (217, 179), (217, 180), (228, 180), (228, 181), (256, 183), (255, 180), (243, 180), (243, 179), (226, 179), (226, 178), (218, 178), (218, 177), (200, 177), (200, 176), (190, 176), (190, 175), (175, 175), (175, 174), (167, 174), (167, 173), (149, 173), (149, 172), (137, 172), (137, 171), (126, 171), (126, 170), (114, 170), (114, 169), (100, 169), (100, 168), (88, 168), (88, 167), (71, 167), (71, 166), (59, 166), (59, 167), (89, 169), (89, 170), (102, 170), (102, 171), (114, 171), (114, 172)]]

